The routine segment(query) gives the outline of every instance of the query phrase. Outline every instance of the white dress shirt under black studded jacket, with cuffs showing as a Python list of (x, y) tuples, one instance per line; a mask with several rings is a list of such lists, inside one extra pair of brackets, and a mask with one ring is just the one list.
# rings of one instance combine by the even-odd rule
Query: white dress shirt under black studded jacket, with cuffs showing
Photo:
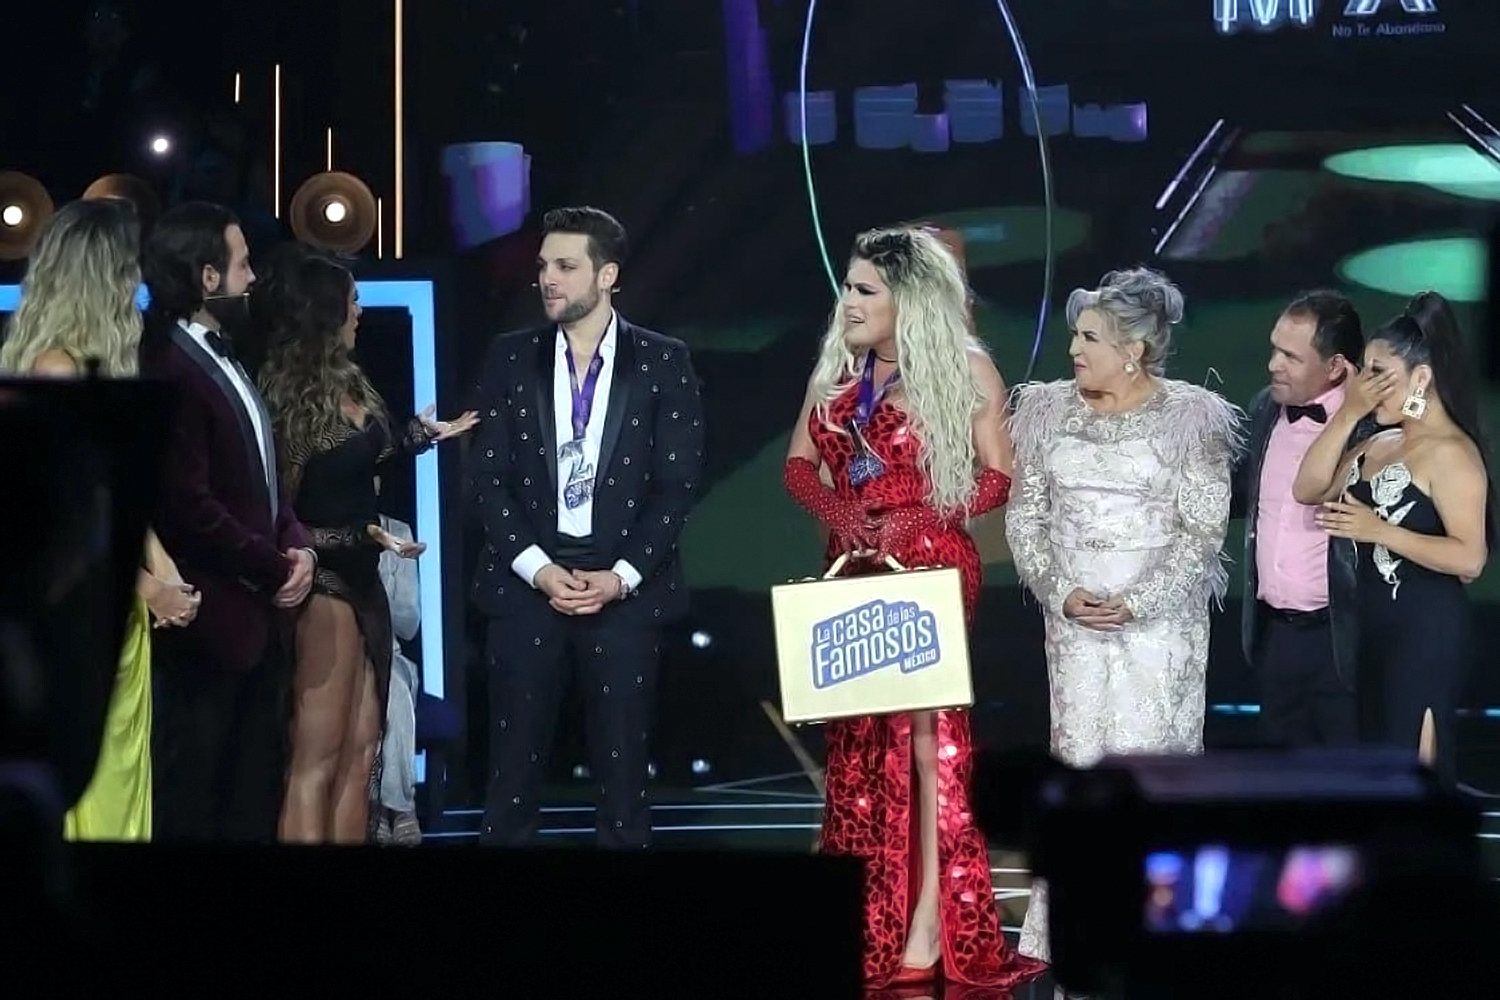
[[(609, 315), (609, 327), (604, 330), (604, 337), (598, 342), (598, 358), (600, 370), (598, 381), (594, 384), (594, 406), (588, 414), (588, 424), (584, 429), (584, 465), (594, 471), (596, 480), (603, 469), (598, 468), (598, 453), (604, 441), (604, 414), (609, 409), (609, 391), (615, 382), (615, 345), (620, 337), (620, 315)], [(586, 378), (585, 372), (579, 372), (582, 378)], [(573, 538), (588, 538), (594, 534), (594, 496), (592, 490), (586, 501), (580, 505), (568, 510), (564, 498), (564, 489), (567, 487), (568, 474), (573, 471), (573, 463), (576, 459), (562, 456), (562, 445), (573, 439), (573, 373), (568, 369), (568, 343), (567, 334), (558, 327), (556, 331), (556, 346), (554, 349), (554, 364), (552, 364), (552, 414), (554, 424), (556, 430), (558, 454), (554, 460), (558, 463), (558, 534), (570, 535)], [(516, 576), (522, 580), (536, 586), (537, 573), (543, 568), (552, 565), (552, 558), (542, 550), (542, 546), (531, 546), (525, 549), (516, 561), (510, 564)], [(633, 565), (620, 559), (610, 567), (612, 571), (624, 582), (626, 591), (634, 591), (640, 586), (640, 574)]]

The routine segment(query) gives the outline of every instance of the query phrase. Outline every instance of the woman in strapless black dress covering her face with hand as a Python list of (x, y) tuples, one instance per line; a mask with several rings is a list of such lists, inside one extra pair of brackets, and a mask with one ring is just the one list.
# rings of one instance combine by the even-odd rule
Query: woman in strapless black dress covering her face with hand
[[(1454, 310), (1422, 292), (1365, 346), (1360, 375), (1293, 492), (1356, 543), (1364, 735), (1456, 780), (1454, 729), (1473, 655), (1468, 594), (1494, 544), (1479, 396)], [(1382, 430), (1344, 453), (1354, 424)]]

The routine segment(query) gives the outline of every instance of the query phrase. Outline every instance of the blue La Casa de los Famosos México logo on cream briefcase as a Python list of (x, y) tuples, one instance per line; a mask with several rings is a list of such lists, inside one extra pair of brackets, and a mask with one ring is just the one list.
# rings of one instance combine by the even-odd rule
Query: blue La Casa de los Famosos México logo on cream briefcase
[(888, 667), (915, 673), (940, 658), (938, 616), (915, 601), (870, 601), (813, 624), (819, 691)]

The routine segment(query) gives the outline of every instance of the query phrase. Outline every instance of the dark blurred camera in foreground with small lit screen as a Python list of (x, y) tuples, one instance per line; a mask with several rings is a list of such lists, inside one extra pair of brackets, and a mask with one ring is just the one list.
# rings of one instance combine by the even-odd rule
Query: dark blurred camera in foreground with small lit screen
[(1488, 891), (1479, 804), (1404, 753), (1140, 756), (1090, 769), (1008, 754), (975, 774), (981, 826), (1047, 882), (1053, 975), (1070, 991), (1306, 985), (1362, 948), (1356, 915), (1382, 886)]

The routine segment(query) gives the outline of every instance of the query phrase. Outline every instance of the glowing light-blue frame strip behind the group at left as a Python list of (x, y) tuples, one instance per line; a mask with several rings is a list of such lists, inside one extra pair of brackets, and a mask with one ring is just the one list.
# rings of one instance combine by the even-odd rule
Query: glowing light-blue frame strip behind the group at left
[[(411, 316), (411, 399), (423, 406), (438, 399), (436, 295), (426, 279), (358, 282), (364, 309), (404, 309)], [(20, 285), (0, 285), (0, 313), (15, 312)], [(146, 288), (138, 301), (144, 307)], [(441, 699), (446, 690), (442, 642), (442, 502), (438, 492), (438, 450), (417, 456), (417, 538), (428, 543), (417, 574), (422, 607), (422, 690)]]

